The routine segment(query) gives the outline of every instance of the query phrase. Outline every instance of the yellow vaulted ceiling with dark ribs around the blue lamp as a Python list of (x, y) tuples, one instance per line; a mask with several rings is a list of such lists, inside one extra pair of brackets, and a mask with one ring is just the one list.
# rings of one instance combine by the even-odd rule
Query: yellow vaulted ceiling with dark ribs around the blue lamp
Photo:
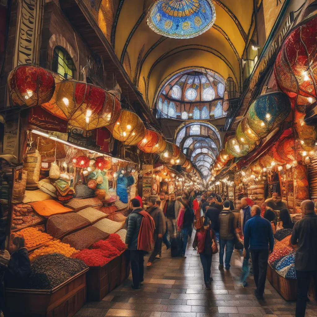
[[(151, 2), (124, 0), (116, 26), (114, 45), (118, 59), (125, 57), (125, 67), (127, 55), (122, 55), (122, 52), (126, 49), (131, 63), (130, 79), (136, 82), (149, 107), (153, 107), (159, 84), (171, 73), (184, 67), (211, 69), (225, 79), (232, 77), (239, 87), (239, 59), (251, 24), (253, 0), (214, 0), (216, 21), (212, 28), (191, 39), (166, 38), (152, 50), (151, 47), (161, 36), (153, 32), (146, 23)], [(143, 20), (136, 27), (144, 13)], [(129, 39), (133, 28), (133, 36)], [(138, 74), (136, 79), (135, 74)]]

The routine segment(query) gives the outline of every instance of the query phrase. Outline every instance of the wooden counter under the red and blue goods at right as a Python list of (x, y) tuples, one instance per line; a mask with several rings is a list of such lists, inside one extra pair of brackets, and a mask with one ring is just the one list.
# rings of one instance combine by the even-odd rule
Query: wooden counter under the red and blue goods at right
[[(268, 270), (266, 273), (268, 281), (272, 284), (275, 290), (285, 299), (285, 301), (296, 301), (297, 299), (297, 285), (295, 279), (286, 279), (279, 275), (273, 268), (268, 264)], [(309, 287), (308, 297), (310, 300), (315, 300), (314, 281)]]

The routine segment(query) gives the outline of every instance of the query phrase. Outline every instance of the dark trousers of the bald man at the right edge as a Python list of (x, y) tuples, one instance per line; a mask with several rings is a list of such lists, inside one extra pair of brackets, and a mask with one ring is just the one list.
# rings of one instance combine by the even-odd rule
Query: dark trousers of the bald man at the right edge
[(307, 293), (310, 286), (311, 279), (314, 279), (315, 289), (317, 294), (317, 271), (297, 271), (296, 270), (296, 282), (297, 282), (297, 301), (296, 301), (296, 317), (304, 317), (307, 302)]

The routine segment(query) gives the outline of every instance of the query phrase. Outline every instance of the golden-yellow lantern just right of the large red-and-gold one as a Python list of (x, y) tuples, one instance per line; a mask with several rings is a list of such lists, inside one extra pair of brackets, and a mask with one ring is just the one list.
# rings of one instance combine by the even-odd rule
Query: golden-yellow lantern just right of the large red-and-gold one
[(145, 126), (137, 114), (129, 110), (121, 110), (120, 116), (111, 126), (110, 131), (115, 139), (125, 145), (135, 145), (144, 139)]

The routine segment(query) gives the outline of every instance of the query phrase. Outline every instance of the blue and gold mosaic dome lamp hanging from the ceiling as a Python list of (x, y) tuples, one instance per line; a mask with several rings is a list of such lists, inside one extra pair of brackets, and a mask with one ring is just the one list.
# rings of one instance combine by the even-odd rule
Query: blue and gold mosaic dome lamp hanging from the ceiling
[(147, 13), (147, 24), (154, 32), (177, 39), (198, 36), (215, 20), (211, 0), (155, 0)]

